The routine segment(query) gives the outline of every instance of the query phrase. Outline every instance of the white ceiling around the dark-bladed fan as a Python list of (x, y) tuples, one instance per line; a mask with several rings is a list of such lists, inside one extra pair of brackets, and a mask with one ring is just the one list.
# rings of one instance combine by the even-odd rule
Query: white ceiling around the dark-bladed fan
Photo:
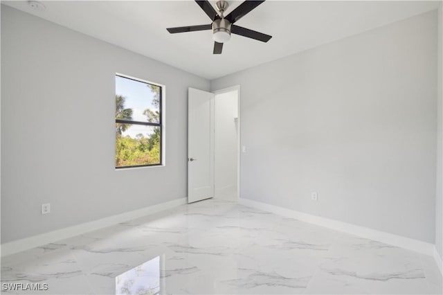
[[(194, 1), (26, 1), (8, 6), (72, 28), (179, 69), (213, 79), (320, 44), (419, 15), (438, 1), (266, 1), (236, 24), (272, 35), (262, 43), (232, 35), (213, 55), (211, 31), (171, 35), (166, 28), (210, 24)], [(215, 1), (210, 1), (215, 6)], [(242, 1), (229, 1), (227, 15)]]

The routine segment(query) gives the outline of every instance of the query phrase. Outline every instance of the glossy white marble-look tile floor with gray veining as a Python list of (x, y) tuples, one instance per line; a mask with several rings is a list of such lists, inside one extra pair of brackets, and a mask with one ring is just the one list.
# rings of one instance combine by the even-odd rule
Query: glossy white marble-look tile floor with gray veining
[(207, 200), (1, 260), (5, 294), (441, 294), (433, 258)]

